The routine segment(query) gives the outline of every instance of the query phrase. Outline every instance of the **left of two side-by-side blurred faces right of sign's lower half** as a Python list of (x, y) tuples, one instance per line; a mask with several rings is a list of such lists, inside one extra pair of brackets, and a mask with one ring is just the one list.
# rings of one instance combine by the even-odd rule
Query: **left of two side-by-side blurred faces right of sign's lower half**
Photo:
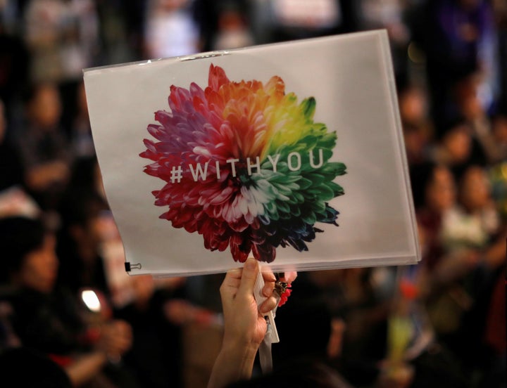
[(436, 212), (444, 212), (456, 201), (456, 186), (449, 169), (437, 167), (434, 169), (433, 178), (426, 188), (426, 202), (430, 209)]

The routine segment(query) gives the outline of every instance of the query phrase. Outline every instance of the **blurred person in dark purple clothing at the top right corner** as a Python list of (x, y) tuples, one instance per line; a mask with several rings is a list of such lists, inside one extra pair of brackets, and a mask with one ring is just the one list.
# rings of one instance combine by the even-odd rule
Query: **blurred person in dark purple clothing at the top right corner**
[(487, 0), (430, 0), (413, 18), (413, 39), (426, 56), (431, 111), (437, 133), (453, 119), (452, 93), (457, 82), (480, 71), (484, 108), (494, 98), (496, 30)]

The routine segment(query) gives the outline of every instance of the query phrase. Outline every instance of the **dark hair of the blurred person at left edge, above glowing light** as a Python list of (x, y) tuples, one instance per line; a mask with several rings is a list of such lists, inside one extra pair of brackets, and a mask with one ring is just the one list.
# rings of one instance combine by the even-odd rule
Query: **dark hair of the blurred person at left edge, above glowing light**
[(40, 219), (12, 216), (0, 219), (0, 255), (4, 269), (0, 280), (18, 271), (30, 252), (42, 247), (46, 228)]

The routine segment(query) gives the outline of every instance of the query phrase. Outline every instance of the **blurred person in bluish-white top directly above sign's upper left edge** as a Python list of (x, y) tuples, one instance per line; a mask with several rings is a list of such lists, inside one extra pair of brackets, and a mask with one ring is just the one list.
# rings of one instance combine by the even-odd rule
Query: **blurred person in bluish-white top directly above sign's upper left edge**
[(199, 32), (189, 0), (150, 0), (144, 45), (148, 58), (185, 56), (199, 51)]

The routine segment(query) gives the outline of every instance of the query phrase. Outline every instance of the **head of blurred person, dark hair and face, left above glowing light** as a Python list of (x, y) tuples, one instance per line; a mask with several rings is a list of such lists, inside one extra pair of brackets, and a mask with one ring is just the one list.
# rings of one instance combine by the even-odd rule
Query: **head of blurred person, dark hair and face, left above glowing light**
[(8, 281), (18, 287), (51, 292), (58, 273), (56, 240), (39, 219), (0, 219), (0, 252)]

